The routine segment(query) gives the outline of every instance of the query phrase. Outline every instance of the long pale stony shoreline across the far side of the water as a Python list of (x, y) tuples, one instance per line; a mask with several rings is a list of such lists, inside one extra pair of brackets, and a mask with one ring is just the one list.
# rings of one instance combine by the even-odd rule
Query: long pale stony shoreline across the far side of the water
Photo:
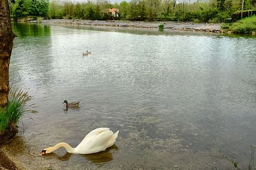
[[(30, 22), (37, 22), (32, 20)], [(42, 20), (44, 24), (61, 24), (61, 25), (85, 25), (85, 26), (100, 26), (100, 27), (122, 27), (122, 28), (143, 28), (157, 29), (160, 24), (164, 24), (164, 30), (173, 31), (196, 31), (196, 32), (226, 32), (221, 30), (221, 24), (193, 24), (189, 22), (143, 22), (143, 21), (119, 21), (119, 20), (66, 20), (66, 19), (51, 19)]]

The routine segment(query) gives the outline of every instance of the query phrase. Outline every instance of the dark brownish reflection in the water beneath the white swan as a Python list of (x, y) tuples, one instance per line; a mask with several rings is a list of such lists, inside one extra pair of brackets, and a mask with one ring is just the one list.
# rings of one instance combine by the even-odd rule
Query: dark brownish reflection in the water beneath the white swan
[[(111, 150), (118, 150), (118, 148), (116, 145), (113, 145), (103, 152), (91, 153), (91, 154), (85, 154), (85, 155), (79, 154), (79, 156), (84, 157), (85, 159), (89, 160), (94, 164), (105, 163), (113, 160), (113, 153), (110, 152)], [(72, 155), (78, 156), (78, 154), (72, 154), (68, 152), (62, 156), (58, 155), (57, 153), (50, 153), (46, 156), (57, 157), (57, 159), (59, 160), (66, 161), (66, 160), (69, 160)]]

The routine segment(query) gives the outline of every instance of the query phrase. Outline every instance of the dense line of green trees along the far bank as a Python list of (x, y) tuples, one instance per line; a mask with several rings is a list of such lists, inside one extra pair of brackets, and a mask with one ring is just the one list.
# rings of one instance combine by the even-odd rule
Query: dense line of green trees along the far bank
[(112, 4), (108, 0), (88, 0), (84, 3), (49, 0), (15, 0), (11, 13), (48, 18), (82, 18), (90, 20), (116, 19), (109, 8), (118, 8), (122, 20), (174, 20), (223, 22), (236, 11), (256, 9), (256, 0), (131, 0)]

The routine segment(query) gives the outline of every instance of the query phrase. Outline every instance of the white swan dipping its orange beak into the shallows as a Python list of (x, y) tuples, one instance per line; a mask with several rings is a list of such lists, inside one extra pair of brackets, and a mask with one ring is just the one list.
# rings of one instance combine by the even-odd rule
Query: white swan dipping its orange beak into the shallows
[(42, 150), (41, 155), (54, 152), (54, 150), (60, 147), (64, 147), (68, 153), (89, 154), (101, 152), (115, 144), (118, 132), (114, 134), (109, 128), (100, 127), (88, 133), (76, 148), (72, 148), (67, 143), (58, 143), (55, 146)]

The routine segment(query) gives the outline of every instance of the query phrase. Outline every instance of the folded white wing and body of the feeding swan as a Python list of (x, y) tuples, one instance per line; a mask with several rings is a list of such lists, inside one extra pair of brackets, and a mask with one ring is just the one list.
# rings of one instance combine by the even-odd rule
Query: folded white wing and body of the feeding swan
[(106, 150), (106, 148), (109, 147), (109, 140), (111, 140), (112, 137), (113, 132), (108, 128), (95, 129), (86, 135), (75, 150), (77, 153), (96, 153)]

